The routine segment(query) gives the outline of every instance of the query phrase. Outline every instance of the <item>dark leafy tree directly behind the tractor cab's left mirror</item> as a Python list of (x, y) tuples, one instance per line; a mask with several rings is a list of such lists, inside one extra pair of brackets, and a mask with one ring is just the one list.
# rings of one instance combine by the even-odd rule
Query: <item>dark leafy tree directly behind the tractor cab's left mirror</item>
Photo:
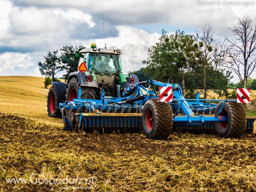
[[(73, 47), (71, 45), (69, 46), (63, 46), (60, 49), (61, 55), (63, 55), (64, 53), (79, 53), (82, 49), (84, 49), (86, 47), (84, 47), (83, 45), (79, 46), (79, 47)], [(79, 61), (79, 57), (74, 57), (74, 56), (68, 56), (68, 61), (65, 65), (65, 69), (73, 69), (74, 71), (77, 71), (78, 68), (78, 61)], [(68, 79), (69, 73), (66, 73), (65, 75), (63, 75), (63, 79)]]

